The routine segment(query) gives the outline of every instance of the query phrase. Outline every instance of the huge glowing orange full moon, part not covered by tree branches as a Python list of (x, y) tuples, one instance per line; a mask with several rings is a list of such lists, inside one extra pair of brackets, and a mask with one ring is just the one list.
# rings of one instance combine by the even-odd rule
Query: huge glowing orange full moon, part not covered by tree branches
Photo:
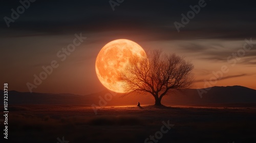
[(99, 81), (108, 89), (124, 93), (124, 82), (118, 77), (130, 58), (145, 58), (146, 53), (142, 47), (134, 41), (118, 39), (104, 45), (100, 50), (95, 63), (96, 74)]

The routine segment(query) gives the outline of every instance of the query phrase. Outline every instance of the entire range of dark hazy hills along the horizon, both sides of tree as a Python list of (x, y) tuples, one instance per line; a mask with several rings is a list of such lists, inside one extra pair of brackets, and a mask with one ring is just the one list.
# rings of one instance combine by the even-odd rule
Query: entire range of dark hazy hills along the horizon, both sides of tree
[[(223, 104), (223, 103), (256, 103), (256, 90), (243, 86), (215, 86), (200, 98), (199, 89), (186, 89), (182, 92), (174, 92), (162, 99), (164, 105), (191, 105), (191, 104)], [(3, 93), (4, 91), (1, 90)], [(136, 105), (139, 101), (142, 105), (154, 104), (154, 98), (150, 95), (131, 95), (120, 98), (122, 94), (110, 96), (110, 91), (104, 90), (98, 93), (80, 96), (76, 94), (52, 94), (9, 91), (8, 103), (11, 104), (83, 104), (91, 106), (99, 104), (106, 106)], [(104, 100), (107, 98), (108, 101)], [(3, 105), (3, 102), (0, 102)]]

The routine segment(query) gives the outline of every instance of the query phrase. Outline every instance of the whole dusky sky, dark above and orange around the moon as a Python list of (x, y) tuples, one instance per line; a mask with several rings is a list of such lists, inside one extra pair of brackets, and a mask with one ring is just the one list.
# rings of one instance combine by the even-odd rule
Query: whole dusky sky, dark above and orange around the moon
[[(37, 0), (9, 24), (11, 9), (22, 4), (2, 2), (2, 82), (9, 83), (9, 90), (29, 91), (27, 83), (34, 84), (34, 75), (55, 60), (59, 66), (33, 92), (98, 92), (105, 88), (95, 73), (97, 54), (112, 40), (129, 39), (145, 51), (162, 49), (190, 60), (195, 66), (193, 88), (207, 87), (206, 81), (217, 75), (222, 79), (211, 86), (256, 89), (255, 1), (201, 1), (204, 7), (180, 32), (174, 22), (182, 23), (182, 14), (200, 1), (119, 0), (114, 11), (110, 2)], [(57, 53), (73, 43), (75, 34), (87, 38), (65, 60), (59, 58)], [(216, 74), (223, 66), (227, 72)]]

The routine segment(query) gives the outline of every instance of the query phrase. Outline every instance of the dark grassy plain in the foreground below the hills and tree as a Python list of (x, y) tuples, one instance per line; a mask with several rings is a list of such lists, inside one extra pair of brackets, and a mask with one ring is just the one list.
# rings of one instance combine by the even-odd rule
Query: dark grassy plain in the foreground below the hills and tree
[[(38, 143), (256, 142), (253, 106), (104, 107), (95, 115), (91, 107), (77, 105), (10, 105), (8, 139), (3, 133), (2, 138)], [(3, 132), (3, 122), (0, 126)]]

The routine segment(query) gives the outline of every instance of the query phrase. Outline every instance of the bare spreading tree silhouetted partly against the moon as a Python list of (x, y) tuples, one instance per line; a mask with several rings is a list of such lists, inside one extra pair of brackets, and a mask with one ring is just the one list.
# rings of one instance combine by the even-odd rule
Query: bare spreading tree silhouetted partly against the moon
[(170, 89), (185, 89), (193, 83), (193, 68), (183, 57), (154, 50), (147, 53), (147, 58), (131, 58), (119, 80), (126, 83), (127, 92), (151, 93), (155, 105), (161, 106)]

